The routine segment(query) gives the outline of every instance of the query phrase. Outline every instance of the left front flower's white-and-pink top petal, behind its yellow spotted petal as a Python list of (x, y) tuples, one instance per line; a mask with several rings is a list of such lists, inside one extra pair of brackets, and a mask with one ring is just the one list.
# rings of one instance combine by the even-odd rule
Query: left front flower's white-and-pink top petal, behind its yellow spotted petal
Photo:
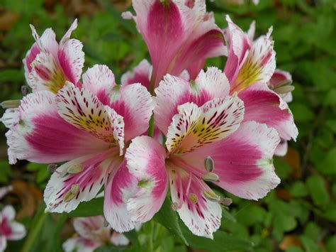
[(116, 85), (113, 72), (105, 65), (95, 65), (87, 70), (83, 82), (84, 89), (123, 116), (125, 141), (147, 131), (154, 104), (145, 86), (140, 83)]

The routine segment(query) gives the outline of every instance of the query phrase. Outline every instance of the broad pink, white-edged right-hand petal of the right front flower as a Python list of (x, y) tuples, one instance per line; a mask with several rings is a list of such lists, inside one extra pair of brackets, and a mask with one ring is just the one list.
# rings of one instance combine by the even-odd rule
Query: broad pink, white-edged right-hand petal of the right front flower
[(280, 182), (272, 162), (279, 141), (274, 128), (249, 121), (223, 141), (184, 155), (184, 160), (201, 170), (204, 158), (211, 156), (218, 186), (238, 197), (260, 199)]

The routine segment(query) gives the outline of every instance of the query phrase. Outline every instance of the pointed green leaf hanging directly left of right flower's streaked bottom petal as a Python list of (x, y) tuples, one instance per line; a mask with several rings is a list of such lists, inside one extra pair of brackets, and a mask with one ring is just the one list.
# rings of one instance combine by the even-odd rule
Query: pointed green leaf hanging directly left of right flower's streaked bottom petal
[(184, 238), (184, 235), (181, 232), (181, 228), (179, 226), (179, 219), (177, 217), (177, 212), (172, 210), (172, 201), (167, 197), (162, 204), (159, 212), (155, 214), (153, 217), (155, 221), (162, 224), (162, 226), (166, 227), (172, 234), (179, 236), (179, 238), (186, 243), (188, 246), (188, 242)]

